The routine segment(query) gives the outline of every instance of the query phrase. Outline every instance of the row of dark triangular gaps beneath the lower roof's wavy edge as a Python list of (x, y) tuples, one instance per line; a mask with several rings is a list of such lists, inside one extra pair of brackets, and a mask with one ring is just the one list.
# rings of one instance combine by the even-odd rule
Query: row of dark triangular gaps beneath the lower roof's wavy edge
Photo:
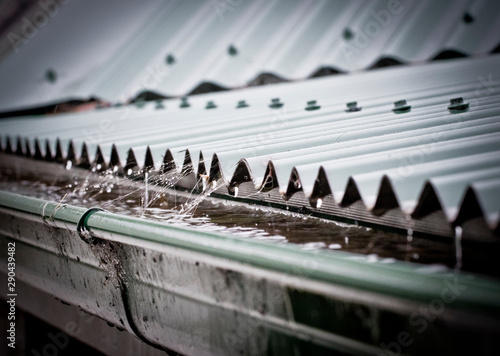
[[(318, 168), (317, 179), (311, 193), (306, 194), (301, 187), (300, 177), (295, 168), (290, 172), (287, 187), (280, 187), (277, 185), (278, 180), (272, 160), (267, 164), (266, 175), (263, 181), (255, 185), (253, 182), (254, 177), (245, 159), (240, 160), (231, 177), (224, 177), (216, 153), (212, 157), (210, 167), (206, 167), (202, 155), (200, 156), (198, 165), (196, 165), (191, 159), (189, 150), (186, 149), (182, 166), (177, 166), (170, 149), (167, 149), (163, 156), (163, 160), (161, 160), (163, 163), (159, 168), (155, 168), (155, 162), (157, 161), (155, 161), (149, 147), (145, 153), (144, 163), (141, 165), (132, 148), (129, 150), (126, 160), (123, 161), (119, 157), (118, 151), (114, 145), (110, 152), (110, 158), (106, 160), (99, 145), (97, 146), (95, 155), (92, 157), (88, 152), (86, 143), (82, 144), (80, 155), (77, 155), (72, 141), (70, 141), (68, 145), (66, 154), (64, 154), (64, 150), (59, 140), (55, 143), (55, 152), (51, 151), (50, 147), (52, 144), (49, 140), (46, 140), (45, 143), (46, 151), (44, 153), (42, 152), (38, 139), (35, 139), (35, 147), (32, 149), (28, 139), (18, 137), (16, 145), (13, 146), (11, 138), (7, 136), (5, 143), (1, 145), (1, 153), (40, 161), (54, 162), (66, 166), (67, 169), (78, 167), (96, 173), (114, 174), (132, 180), (144, 179), (146, 173), (149, 178), (160, 175), (163, 176), (163, 178), (157, 181), (158, 185), (164, 184), (189, 190), (198, 189), (200, 191), (205, 191), (211, 189), (211, 185), (213, 185), (214, 188), (217, 188), (219, 193), (243, 200), (259, 201), (262, 200), (262, 196), (274, 191), (277, 193), (275, 195), (281, 198), (281, 204), (288, 205), (289, 202), (293, 203), (295, 196), (303, 194), (305, 201), (309, 203), (309, 208), (303, 207), (305, 208), (304, 212), (314, 211), (317, 214), (324, 213), (325, 215), (332, 215), (331, 213), (322, 211), (322, 207), (324, 208), (324, 204), (329, 198), (331, 200), (330, 203), (336, 206), (337, 213), (339, 211), (341, 212), (343, 209), (351, 209), (355, 204), (359, 205), (359, 203), (362, 203), (363, 208), (374, 217), (375, 221), (377, 221), (377, 218), (383, 218), (385, 214), (391, 211), (398, 210), (401, 215), (399, 218), (406, 220), (404, 223), (405, 226), (412, 225), (407, 221), (408, 216), (411, 217), (411, 220), (418, 221), (430, 216), (432, 216), (432, 219), (435, 219), (436, 213), (439, 213), (438, 215), (442, 215), (439, 219), (447, 221), (450, 224), (451, 230), (448, 229), (448, 234), (450, 232), (454, 234), (455, 230), (453, 229), (456, 226), (462, 226), (470, 220), (476, 220), (477, 223), (477, 219), (480, 219), (480, 221), (482, 221), (482, 223), (480, 223), (481, 225), (486, 226), (494, 235), (500, 235), (499, 216), (497, 214), (492, 219), (491, 216), (485, 213), (486, 210), (482, 208), (483, 202), (481, 195), (477, 194), (478, 187), (475, 184), (466, 186), (465, 191), (462, 192), (462, 199), (458, 212), (455, 214), (455, 217), (450, 219), (450, 216), (445, 213), (444, 204), (441, 202), (439, 187), (432, 182), (432, 179), (425, 181), (425, 184), (420, 189), (417, 204), (412, 211), (408, 212), (404, 211), (403, 205), (398, 200), (397, 192), (393, 188), (391, 178), (385, 174), (378, 184), (378, 193), (375, 199), (376, 203), (369, 206), (369, 204), (365, 204), (358, 188), (356, 177), (353, 176), (349, 178), (348, 184), (344, 188), (345, 194), (343, 194), (342, 199), (340, 201), (336, 200), (335, 191), (330, 186), (328, 177), (326, 177), (326, 172), (322, 166)], [(122, 162), (125, 162), (125, 164), (123, 165)], [(221, 190), (221, 187), (217, 185), (217, 182), (221, 180), (224, 182), (223, 188), (226, 189), (226, 191)], [(173, 184), (169, 183), (172, 181), (174, 182)], [(243, 189), (241, 189), (242, 186), (244, 186)], [(252, 198), (258, 195), (261, 195), (261, 197)], [(280, 202), (276, 201), (276, 196), (271, 202), (279, 204)], [(264, 198), (264, 201), (267, 200)], [(359, 209), (359, 206), (356, 207), (356, 209)], [(394, 216), (389, 217), (389, 220), (391, 219), (394, 219)], [(391, 223), (387, 225), (391, 225)], [(414, 227), (414, 230), (418, 231), (419, 228)], [(420, 230), (424, 233), (440, 234), (439, 230), (426, 229), (425, 226), (424, 228), (421, 227)], [(444, 230), (446, 231), (447, 229), (445, 228)], [(441, 233), (442, 232), (443, 228), (441, 227)], [(480, 236), (481, 233), (479, 232), (478, 235)], [(480, 240), (481, 237), (477, 239)], [(491, 237), (483, 237), (483, 239), (491, 240)]]

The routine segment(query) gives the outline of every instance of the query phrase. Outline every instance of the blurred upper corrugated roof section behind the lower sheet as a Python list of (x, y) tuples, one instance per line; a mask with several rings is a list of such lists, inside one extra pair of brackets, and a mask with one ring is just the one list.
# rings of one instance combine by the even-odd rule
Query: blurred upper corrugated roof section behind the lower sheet
[(500, 43), (499, 27), (494, 0), (71, 1), (1, 63), (0, 110), (484, 54)]

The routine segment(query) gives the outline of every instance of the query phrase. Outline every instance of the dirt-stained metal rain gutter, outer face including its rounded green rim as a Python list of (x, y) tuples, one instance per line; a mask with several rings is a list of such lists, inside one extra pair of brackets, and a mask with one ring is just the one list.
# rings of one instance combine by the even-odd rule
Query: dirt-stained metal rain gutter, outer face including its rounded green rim
[(5, 192), (0, 221), (0, 249), (16, 243), (20, 281), (181, 354), (378, 355), (402, 332), (414, 341), (404, 354), (442, 354), (470, 340), (494, 350), (500, 337), (499, 283), (471, 274)]

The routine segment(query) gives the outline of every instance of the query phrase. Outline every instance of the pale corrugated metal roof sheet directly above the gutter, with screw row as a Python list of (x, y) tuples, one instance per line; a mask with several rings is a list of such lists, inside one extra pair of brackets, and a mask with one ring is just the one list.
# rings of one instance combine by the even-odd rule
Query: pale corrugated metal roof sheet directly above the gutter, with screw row
[[(10, 136), (8, 144), (3, 137), (7, 152), (22, 136), (21, 154), (123, 167), (133, 177), (154, 166), (182, 175), (176, 184), (186, 188), (201, 187), (207, 175), (247, 200), (442, 235), (454, 234), (445, 221), (466, 226), (482, 217), (486, 230), (498, 232), (499, 70), (499, 55), (457, 59), (197, 95), (189, 107), (169, 99), (2, 120), (0, 130)], [(456, 97), (470, 104), (467, 111), (448, 109)], [(272, 98), (283, 106), (270, 108)], [(402, 99), (411, 110), (397, 114), (394, 102)], [(239, 108), (241, 100), (248, 107)], [(346, 112), (354, 100), (362, 109)], [(471, 234), (489, 232), (476, 226)]]

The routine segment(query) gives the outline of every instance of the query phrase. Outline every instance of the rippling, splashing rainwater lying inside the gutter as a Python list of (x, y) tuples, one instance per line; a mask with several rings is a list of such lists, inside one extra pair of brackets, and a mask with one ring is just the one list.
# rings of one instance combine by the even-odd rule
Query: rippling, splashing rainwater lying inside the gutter
[[(139, 176), (138, 172), (133, 174)], [(3, 172), (0, 189), (201, 230), (276, 243), (294, 243), (307, 250), (354, 252), (364, 255), (368, 261), (391, 263), (402, 260), (498, 274), (497, 265), (484, 263), (485, 260), (497, 260), (494, 254), (498, 251), (495, 249), (461, 245), (458, 256), (453, 239), (423, 238), (415, 235), (411, 228), (406, 234), (386, 232), (260, 205), (211, 198), (210, 194), (221, 183), (204, 181), (205, 177), (199, 178), (200, 186), (205, 188), (201, 194), (194, 191), (176, 193), (174, 186), (182, 177), (177, 172), (162, 175), (147, 173), (145, 182), (133, 185), (123, 184), (124, 180), (117, 178), (112, 170), (101, 174), (88, 172), (83, 176), (58, 175), (51, 181), (39, 176), (23, 176), (19, 172), (15, 176)]]

